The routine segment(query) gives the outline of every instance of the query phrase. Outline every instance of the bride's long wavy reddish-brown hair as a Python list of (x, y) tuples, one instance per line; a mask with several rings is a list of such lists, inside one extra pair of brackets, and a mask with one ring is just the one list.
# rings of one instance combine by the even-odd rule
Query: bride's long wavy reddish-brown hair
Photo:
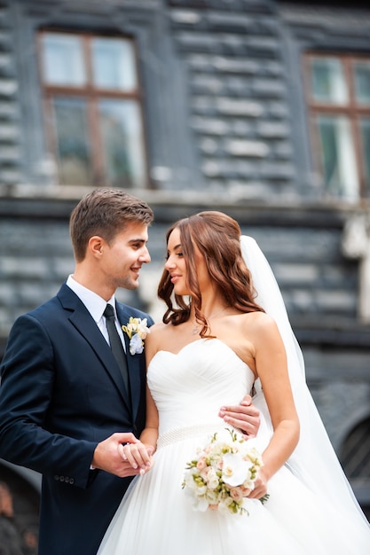
[(158, 285), (158, 296), (168, 307), (163, 316), (165, 324), (170, 322), (178, 325), (186, 322), (190, 317), (193, 304), (195, 318), (203, 324), (201, 337), (208, 332), (209, 324), (201, 312), (201, 291), (197, 278), (195, 246), (204, 257), (209, 276), (223, 295), (226, 306), (232, 306), (241, 312), (264, 312), (264, 309), (254, 301), (256, 290), (252, 284), (250, 271), (241, 255), (239, 223), (222, 212), (200, 212), (174, 223), (167, 231), (167, 243), (175, 229), (180, 232), (191, 301), (175, 294), (176, 306), (174, 306), (173, 284), (169, 271), (164, 270)]

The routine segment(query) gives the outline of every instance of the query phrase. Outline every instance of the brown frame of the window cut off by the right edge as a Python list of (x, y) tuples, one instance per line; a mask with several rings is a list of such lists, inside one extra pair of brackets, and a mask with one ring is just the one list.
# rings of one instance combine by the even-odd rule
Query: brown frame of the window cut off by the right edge
[[(339, 59), (343, 67), (343, 75), (348, 87), (349, 98), (343, 104), (327, 104), (313, 98), (311, 88), (311, 61), (313, 59)], [(358, 198), (355, 200), (366, 199), (370, 196), (370, 190), (366, 191), (366, 153), (363, 152), (363, 145), (360, 131), (360, 118), (362, 116), (370, 118), (370, 105), (358, 104), (355, 98), (355, 74), (354, 64), (357, 61), (367, 61), (370, 63), (370, 55), (342, 51), (314, 51), (303, 52), (303, 84), (305, 90), (306, 109), (308, 111), (309, 139), (311, 143), (311, 156), (313, 167), (319, 171), (324, 187), (325, 172), (322, 164), (320, 151), (319, 126), (315, 123), (315, 117), (320, 114), (337, 115), (348, 118), (350, 123), (351, 138), (354, 145), (354, 155), (358, 170)], [(367, 185), (369, 186), (369, 185)], [(327, 193), (330, 195), (330, 193)], [(335, 196), (336, 198), (336, 196)], [(348, 199), (348, 197), (337, 196), (338, 199)]]

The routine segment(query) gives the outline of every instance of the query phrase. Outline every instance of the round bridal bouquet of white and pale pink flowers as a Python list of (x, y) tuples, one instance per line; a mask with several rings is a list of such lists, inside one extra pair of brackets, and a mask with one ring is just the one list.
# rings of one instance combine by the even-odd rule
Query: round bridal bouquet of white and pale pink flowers
[(262, 465), (253, 440), (244, 440), (235, 430), (225, 428), (214, 434), (206, 447), (198, 448), (186, 464), (183, 489), (191, 497), (194, 511), (248, 512), (244, 497), (254, 489)]

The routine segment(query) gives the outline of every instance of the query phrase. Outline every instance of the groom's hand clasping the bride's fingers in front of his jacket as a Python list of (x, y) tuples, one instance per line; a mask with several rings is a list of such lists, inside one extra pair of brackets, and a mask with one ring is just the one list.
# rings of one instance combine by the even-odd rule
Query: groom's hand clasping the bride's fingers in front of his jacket
[(120, 455), (122, 443), (138, 443), (138, 438), (129, 433), (110, 435), (106, 440), (98, 443), (95, 448), (91, 467), (105, 470), (107, 473), (115, 474), (120, 478), (138, 474), (139, 468), (134, 469), (127, 460), (122, 459)]

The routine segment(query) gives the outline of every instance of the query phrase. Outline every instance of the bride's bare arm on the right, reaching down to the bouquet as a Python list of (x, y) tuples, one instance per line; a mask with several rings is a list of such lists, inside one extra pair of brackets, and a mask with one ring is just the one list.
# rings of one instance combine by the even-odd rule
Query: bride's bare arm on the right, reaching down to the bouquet
[(274, 430), (263, 453), (264, 466), (250, 495), (259, 498), (267, 491), (267, 481), (294, 451), (299, 440), (299, 420), (288, 378), (287, 355), (277, 325), (272, 317), (261, 313), (253, 333), (256, 372), (262, 383)]

